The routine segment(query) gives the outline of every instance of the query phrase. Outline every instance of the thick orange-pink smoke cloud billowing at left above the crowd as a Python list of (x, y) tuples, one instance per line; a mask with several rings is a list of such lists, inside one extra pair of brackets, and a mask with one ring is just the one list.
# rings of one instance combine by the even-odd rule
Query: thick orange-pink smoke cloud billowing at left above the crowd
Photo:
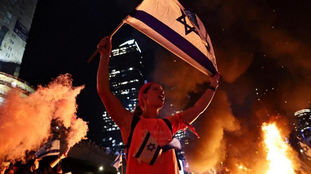
[(0, 159), (23, 160), (26, 150), (39, 149), (51, 136), (52, 119), (68, 128), (69, 147), (86, 138), (87, 123), (76, 115), (76, 97), (83, 88), (73, 87), (71, 76), (64, 74), (27, 97), (10, 90), (0, 106)]

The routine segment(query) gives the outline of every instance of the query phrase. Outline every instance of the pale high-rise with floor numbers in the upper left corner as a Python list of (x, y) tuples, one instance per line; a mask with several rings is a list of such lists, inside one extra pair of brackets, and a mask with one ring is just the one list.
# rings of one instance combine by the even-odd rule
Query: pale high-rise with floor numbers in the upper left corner
[(0, 72), (18, 77), (37, 0), (0, 1)]

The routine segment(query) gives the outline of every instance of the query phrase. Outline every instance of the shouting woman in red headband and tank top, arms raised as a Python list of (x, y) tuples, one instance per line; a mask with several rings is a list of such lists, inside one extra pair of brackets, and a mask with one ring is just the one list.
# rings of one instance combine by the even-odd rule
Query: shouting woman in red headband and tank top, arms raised
[[(173, 150), (164, 152), (163, 146), (172, 141), (172, 135), (190, 125), (210, 104), (219, 74), (210, 77), (210, 86), (196, 104), (184, 112), (159, 119), (159, 109), (163, 107), (165, 94), (158, 83), (146, 83), (139, 91), (139, 105), (134, 113), (126, 110), (109, 88), (108, 64), (111, 52), (111, 38), (105, 37), (97, 46), (101, 47), (101, 59), (97, 73), (97, 92), (113, 121), (120, 127), (126, 152), (126, 173), (170, 173), (178, 174), (178, 161)], [(138, 120), (134, 123), (134, 120)], [(197, 133), (196, 133), (197, 135)], [(198, 135), (197, 135), (198, 136)]]

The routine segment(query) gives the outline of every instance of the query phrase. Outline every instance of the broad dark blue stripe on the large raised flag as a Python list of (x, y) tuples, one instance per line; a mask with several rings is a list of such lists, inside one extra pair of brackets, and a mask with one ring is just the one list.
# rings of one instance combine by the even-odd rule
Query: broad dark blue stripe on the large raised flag
[(169, 26), (165, 25), (163, 22), (153, 17), (152, 15), (146, 13), (145, 11), (135, 10), (130, 14), (130, 16), (148, 25), (154, 31), (162, 35), (164, 38), (166, 38), (169, 42), (174, 44), (177, 48), (185, 52), (193, 60), (198, 62), (204, 68), (208, 69), (213, 75), (216, 74), (217, 71), (212, 61), (210, 61), (210, 59), (206, 57), (191, 42), (182, 37), (180, 34), (171, 29)]

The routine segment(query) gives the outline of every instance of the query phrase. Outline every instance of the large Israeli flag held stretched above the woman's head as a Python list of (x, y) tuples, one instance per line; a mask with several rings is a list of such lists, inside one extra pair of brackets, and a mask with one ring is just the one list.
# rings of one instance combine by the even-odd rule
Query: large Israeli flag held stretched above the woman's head
[(218, 73), (202, 21), (178, 0), (144, 0), (125, 21), (204, 74)]

